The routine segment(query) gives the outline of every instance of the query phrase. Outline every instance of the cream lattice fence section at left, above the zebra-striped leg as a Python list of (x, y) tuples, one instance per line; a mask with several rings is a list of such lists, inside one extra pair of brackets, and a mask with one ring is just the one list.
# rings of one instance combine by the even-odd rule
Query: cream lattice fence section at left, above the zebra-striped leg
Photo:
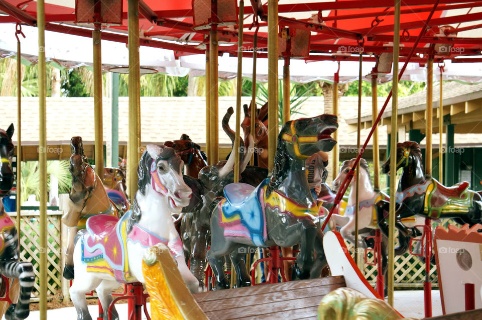
[[(16, 219), (14, 212), (9, 212)], [(38, 211), (22, 212), (20, 233), (20, 260), (30, 261), (34, 266), (35, 285), (33, 296), (39, 296), (40, 252), (47, 252), (47, 295), (55, 295), (62, 287), (61, 274), (61, 211), (48, 211), (47, 248), (40, 249), (40, 221)]]

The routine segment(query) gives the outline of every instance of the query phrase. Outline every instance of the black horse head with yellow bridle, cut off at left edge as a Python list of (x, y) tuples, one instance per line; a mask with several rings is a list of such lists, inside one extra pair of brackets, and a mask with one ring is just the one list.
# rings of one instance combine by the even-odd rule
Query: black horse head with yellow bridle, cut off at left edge
[(9, 194), (14, 185), (14, 172), (12, 171), (12, 157), (14, 155), (14, 124), (11, 124), (7, 131), (0, 129), (0, 197)]

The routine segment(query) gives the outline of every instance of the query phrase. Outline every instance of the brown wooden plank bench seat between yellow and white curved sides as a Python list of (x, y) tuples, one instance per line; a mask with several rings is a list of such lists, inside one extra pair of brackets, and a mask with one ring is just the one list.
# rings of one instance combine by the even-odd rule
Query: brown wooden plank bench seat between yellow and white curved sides
[(316, 319), (321, 299), (345, 287), (343, 276), (194, 294), (210, 319)]

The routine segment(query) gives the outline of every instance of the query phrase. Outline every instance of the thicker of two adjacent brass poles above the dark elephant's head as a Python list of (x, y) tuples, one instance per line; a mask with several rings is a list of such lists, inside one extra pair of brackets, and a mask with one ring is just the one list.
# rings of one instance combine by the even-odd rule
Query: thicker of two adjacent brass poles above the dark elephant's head
[(218, 135), (219, 135), (219, 92), (218, 92), (218, 66), (217, 66), (217, 55), (218, 55), (218, 43), (217, 43), (217, 25), (211, 25), (211, 32), (209, 33), (209, 103), (211, 105), (211, 115), (210, 115), (210, 147), (211, 147), (211, 163), (217, 163), (219, 159), (219, 148), (218, 148)]

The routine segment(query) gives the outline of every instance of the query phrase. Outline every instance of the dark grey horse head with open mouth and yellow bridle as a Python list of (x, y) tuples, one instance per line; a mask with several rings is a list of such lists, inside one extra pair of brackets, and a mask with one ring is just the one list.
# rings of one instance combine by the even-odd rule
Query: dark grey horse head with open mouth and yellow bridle
[(288, 121), (281, 128), (278, 145), (284, 145), (293, 159), (305, 160), (318, 151), (330, 151), (336, 144), (330, 135), (337, 128), (332, 115)]

